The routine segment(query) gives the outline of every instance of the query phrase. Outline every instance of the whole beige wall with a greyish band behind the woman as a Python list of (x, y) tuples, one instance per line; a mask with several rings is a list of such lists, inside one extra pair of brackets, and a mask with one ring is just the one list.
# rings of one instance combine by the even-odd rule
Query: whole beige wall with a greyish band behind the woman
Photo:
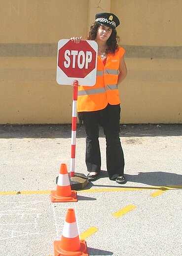
[(102, 11), (120, 17), (126, 49), (121, 122), (182, 123), (181, 0), (0, 0), (0, 124), (71, 123), (57, 42), (85, 37)]

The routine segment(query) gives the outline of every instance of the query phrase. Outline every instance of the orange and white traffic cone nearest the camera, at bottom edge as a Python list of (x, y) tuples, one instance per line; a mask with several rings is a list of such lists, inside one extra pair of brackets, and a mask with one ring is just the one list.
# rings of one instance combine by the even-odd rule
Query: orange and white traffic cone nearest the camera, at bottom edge
[(85, 240), (79, 240), (74, 209), (68, 209), (61, 241), (54, 241), (54, 256), (89, 256)]

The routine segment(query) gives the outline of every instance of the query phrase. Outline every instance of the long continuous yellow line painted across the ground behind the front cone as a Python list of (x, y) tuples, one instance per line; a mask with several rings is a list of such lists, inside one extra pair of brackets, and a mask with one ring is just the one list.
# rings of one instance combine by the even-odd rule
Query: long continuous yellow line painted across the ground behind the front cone
[[(182, 186), (168, 186), (168, 187), (123, 187), (123, 188), (96, 188), (78, 190), (77, 193), (92, 193), (92, 192), (114, 192), (114, 191), (135, 191), (135, 190), (170, 190), (182, 189)], [(163, 193), (162, 192), (162, 193)], [(0, 195), (16, 195), (16, 194), (50, 194), (51, 190), (37, 190), (37, 191), (0, 191)]]

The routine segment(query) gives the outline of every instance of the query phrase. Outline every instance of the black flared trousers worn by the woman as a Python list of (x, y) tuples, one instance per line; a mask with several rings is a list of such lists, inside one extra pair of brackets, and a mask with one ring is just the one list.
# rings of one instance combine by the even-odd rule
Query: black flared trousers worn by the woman
[(124, 156), (119, 138), (120, 105), (110, 105), (99, 111), (78, 113), (86, 131), (87, 171), (101, 170), (101, 152), (99, 145), (99, 125), (106, 136), (106, 157), (109, 179), (114, 180), (124, 173)]

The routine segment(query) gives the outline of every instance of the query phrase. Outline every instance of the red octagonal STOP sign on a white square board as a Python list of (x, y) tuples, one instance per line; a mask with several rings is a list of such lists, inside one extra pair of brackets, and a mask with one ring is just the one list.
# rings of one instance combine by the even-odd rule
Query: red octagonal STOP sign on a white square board
[(97, 72), (97, 43), (81, 40), (74, 43), (62, 39), (58, 42), (57, 83), (60, 85), (95, 85)]

